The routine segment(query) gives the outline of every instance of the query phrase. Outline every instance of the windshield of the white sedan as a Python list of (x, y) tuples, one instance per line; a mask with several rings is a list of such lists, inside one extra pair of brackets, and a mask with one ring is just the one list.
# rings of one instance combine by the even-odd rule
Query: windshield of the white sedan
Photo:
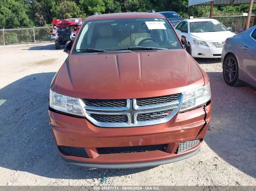
[(189, 23), (191, 33), (219, 32), (228, 29), (219, 21), (199, 21)]

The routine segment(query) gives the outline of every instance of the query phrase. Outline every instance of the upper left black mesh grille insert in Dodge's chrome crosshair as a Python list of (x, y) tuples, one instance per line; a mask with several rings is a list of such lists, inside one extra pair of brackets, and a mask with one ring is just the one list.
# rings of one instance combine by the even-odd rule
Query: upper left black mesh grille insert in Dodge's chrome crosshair
[(98, 99), (83, 99), (85, 105), (92, 107), (125, 107), (126, 100), (98, 100)]

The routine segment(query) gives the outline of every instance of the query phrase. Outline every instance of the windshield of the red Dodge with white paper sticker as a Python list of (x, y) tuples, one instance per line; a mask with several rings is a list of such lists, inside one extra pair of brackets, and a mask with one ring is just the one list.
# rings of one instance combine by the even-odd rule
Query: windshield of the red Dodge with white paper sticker
[(72, 53), (126, 49), (182, 49), (182, 46), (165, 18), (119, 18), (85, 22)]

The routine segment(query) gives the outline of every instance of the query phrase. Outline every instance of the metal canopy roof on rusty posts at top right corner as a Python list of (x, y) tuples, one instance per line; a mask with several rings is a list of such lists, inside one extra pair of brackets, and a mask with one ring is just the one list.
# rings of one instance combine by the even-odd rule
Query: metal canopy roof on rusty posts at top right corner
[[(213, 0), (213, 5), (241, 5), (249, 3), (250, 0)], [(256, 3), (256, 0), (253, 3)], [(188, 6), (196, 5), (211, 5), (211, 0), (188, 0)]]

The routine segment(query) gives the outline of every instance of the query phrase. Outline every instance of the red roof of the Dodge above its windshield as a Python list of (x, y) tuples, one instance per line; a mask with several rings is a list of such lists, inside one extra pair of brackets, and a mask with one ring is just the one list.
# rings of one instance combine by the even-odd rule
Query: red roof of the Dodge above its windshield
[(86, 21), (95, 21), (102, 19), (117, 19), (117, 18), (165, 18), (160, 13), (111, 13), (111, 14), (96, 14), (86, 18)]

